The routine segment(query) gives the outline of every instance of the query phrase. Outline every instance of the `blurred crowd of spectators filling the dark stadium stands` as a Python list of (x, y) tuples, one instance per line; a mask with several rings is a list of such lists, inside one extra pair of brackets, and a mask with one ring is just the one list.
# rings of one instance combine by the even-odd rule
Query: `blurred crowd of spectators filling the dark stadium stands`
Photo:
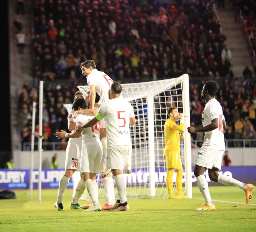
[[(215, 79), (220, 84), (217, 98), (227, 122), (225, 138), (256, 138), (256, 82), (248, 67), (242, 77), (234, 77), (232, 54), (213, 1), (34, 0), (33, 8), (35, 79), (79, 82), (84, 77), (78, 64), (87, 59), (95, 60), (98, 70), (120, 83), (187, 73), (192, 80), (192, 125), (201, 120), (204, 81)], [(60, 84), (45, 88), (44, 141), (58, 141), (55, 132), (67, 129), (62, 103), (72, 103), (76, 91), (76, 87)], [(31, 140), (33, 101), (38, 101), (37, 89), (24, 83), (19, 101), (23, 142)], [(36, 130), (38, 134), (38, 126)], [(193, 136), (203, 139), (200, 133)], [(228, 147), (232, 146), (242, 144), (230, 142)], [(248, 140), (246, 146), (255, 143)]]

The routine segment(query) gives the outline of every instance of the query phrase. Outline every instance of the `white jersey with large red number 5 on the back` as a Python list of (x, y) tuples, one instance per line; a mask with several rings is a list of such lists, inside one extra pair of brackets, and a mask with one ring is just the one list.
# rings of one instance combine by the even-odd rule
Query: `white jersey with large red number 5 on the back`
[(98, 114), (105, 117), (108, 146), (130, 145), (130, 118), (134, 117), (132, 105), (123, 98), (114, 98), (99, 109)]

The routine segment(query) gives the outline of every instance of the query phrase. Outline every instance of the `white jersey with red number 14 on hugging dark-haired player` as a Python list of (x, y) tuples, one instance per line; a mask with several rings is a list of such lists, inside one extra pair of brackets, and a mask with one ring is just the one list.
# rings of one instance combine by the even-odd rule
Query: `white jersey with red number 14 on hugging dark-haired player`
[[(79, 122), (87, 123), (89, 120), (94, 118), (94, 116), (82, 115), (79, 114), (76, 116), (76, 125)], [(92, 127), (83, 128), (82, 129), (82, 138), (83, 138), (83, 146), (84, 145), (93, 145), (95, 142), (100, 142), (100, 124), (96, 123)]]

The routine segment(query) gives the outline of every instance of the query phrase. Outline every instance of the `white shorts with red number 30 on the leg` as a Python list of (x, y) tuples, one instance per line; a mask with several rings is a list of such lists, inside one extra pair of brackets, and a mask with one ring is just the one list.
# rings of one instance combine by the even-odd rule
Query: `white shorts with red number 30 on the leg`
[(80, 156), (82, 148), (82, 136), (79, 138), (69, 138), (66, 149), (65, 170), (76, 169), (80, 172)]

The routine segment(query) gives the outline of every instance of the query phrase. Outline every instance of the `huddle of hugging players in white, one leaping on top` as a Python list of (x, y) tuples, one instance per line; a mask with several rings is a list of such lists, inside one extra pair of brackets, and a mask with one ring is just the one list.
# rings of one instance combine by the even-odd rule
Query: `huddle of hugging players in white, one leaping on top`
[[(64, 210), (63, 194), (75, 171), (82, 173), (71, 209), (88, 211), (127, 211), (129, 205), (126, 197), (125, 173), (131, 173), (131, 149), (129, 124), (135, 124), (132, 105), (121, 96), (121, 84), (114, 82), (104, 72), (96, 69), (93, 60), (87, 60), (79, 66), (87, 77), (90, 91), (87, 96), (79, 91), (75, 94), (72, 111), (68, 114), (68, 130), (56, 132), (58, 139), (68, 137), (65, 161), (65, 174), (60, 179), (58, 199), (54, 206)], [(107, 128), (106, 128), (107, 127)], [(128, 132), (128, 133), (125, 133)], [(98, 184), (96, 173), (102, 175), (106, 204), (102, 207), (98, 201)], [(115, 200), (113, 174), (118, 192)], [(78, 201), (87, 188), (91, 202), (80, 206)]]

